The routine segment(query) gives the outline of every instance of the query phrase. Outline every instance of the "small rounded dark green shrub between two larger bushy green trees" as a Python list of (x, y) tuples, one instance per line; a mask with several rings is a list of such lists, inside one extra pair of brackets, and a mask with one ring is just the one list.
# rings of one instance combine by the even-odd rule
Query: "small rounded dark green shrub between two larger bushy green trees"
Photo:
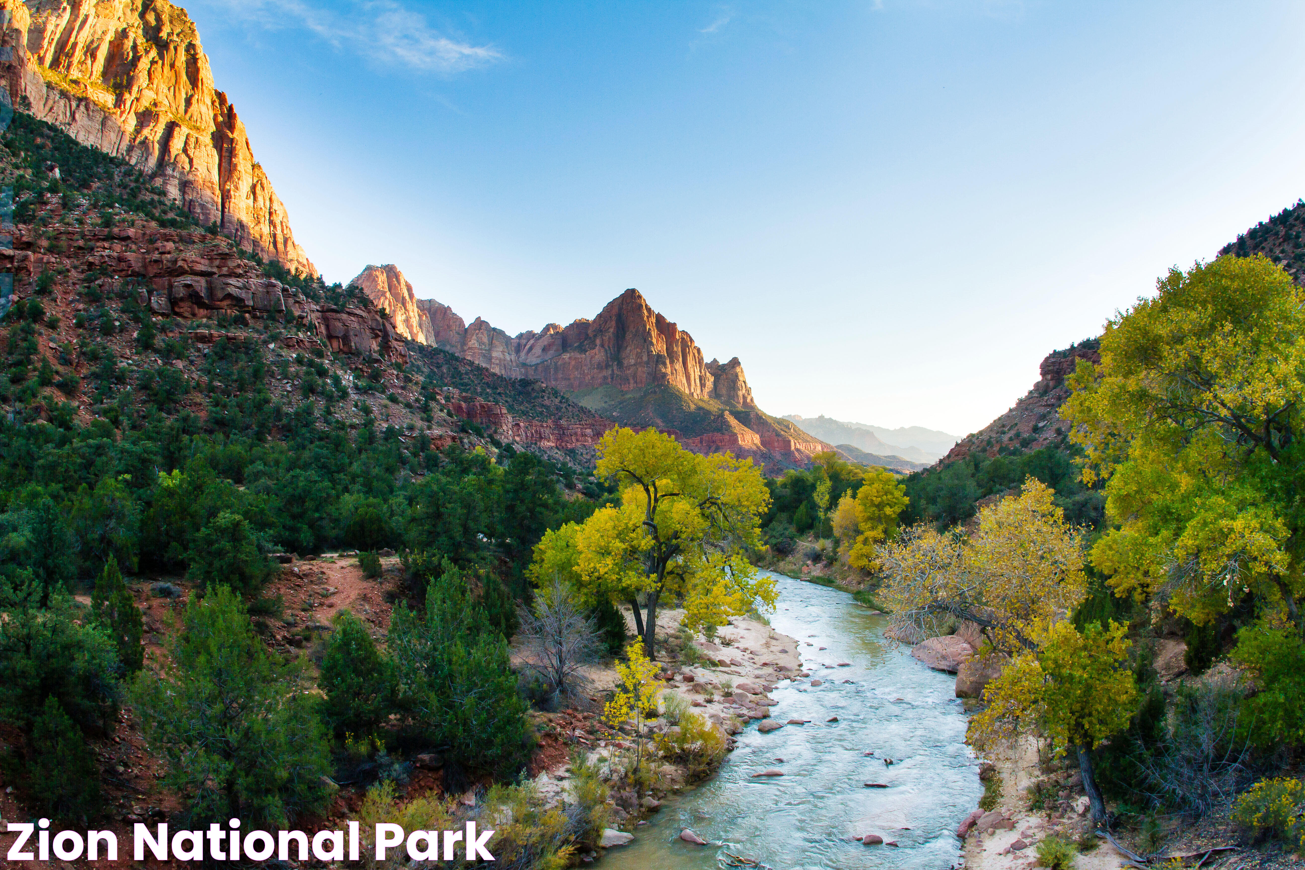
[(376, 648), (367, 625), (348, 610), (335, 617), (317, 686), (326, 694), (322, 717), (337, 734), (369, 734), (394, 711), (394, 665)]

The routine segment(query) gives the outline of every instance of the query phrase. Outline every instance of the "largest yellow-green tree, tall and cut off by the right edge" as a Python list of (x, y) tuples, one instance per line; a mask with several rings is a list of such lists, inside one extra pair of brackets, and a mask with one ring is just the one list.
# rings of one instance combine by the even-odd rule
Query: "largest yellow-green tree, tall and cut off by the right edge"
[[(1092, 565), (1207, 623), (1250, 596), (1298, 623), (1305, 290), (1262, 256), (1172, 270), (1109, 322), (1061, 413), (1105, 480)], [(1297, 626), (1300, 627), (1300, 626)]]

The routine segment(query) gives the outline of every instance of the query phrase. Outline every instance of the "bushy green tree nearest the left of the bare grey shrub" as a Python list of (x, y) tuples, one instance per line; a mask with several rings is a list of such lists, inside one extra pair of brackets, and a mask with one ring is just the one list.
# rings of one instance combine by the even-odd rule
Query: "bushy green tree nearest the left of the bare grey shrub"
[(401, 601), (386, 646), (399, 703), (432, 742), (468, 767), (515, 775), (526, 758), (526, 707), (508, 642), (452, 565), (432, 580), (425, 620)]

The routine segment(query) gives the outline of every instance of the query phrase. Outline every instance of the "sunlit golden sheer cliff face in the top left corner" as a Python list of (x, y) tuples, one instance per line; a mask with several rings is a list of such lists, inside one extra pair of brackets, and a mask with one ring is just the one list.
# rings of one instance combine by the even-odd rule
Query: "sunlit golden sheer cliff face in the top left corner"
[(316, 274), (244, 124), (167, 0), (0, 0), (0, 80), (16, 106), (120, 157), (201, 226)]

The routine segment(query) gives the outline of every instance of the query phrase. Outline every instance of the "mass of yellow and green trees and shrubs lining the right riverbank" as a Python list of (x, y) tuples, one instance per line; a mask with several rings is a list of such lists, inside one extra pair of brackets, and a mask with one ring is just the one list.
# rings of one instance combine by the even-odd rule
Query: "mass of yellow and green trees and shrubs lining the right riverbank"
[[(868, 528), (882, 539), (842, 579), (872, 591), (898, 637), (963, 630), (994, 663), (970, 741), (1045, 741), (1035, 811), (1054, 806), (1067, 757), (1094, 824), (1134, 831), (1143, 857), (1164, 854), (1156, 814), (1219, 813), (1225, 837), (1268, 843), (1268, 861), (1305, 854), (1300, 779), (1284, 776), (1305, 742), (1302, 301), (1261, 256), (1174, 270), (1108, 323), (1099, 363), (1078, 361), (1062, 446), (915, 475), (900, 527), (860, 511), (842, 531), (822, 487), (852, 487), (826, 460), (774, 484), (763, 535), (782, 552), (827, 522), (835, 543), (806, 545), (817, 570), (851, 567)], [(1094, 502), (1100, 514), (1081, 510)], [(1156, 652), (1174, 647), (1161, 677)]]

